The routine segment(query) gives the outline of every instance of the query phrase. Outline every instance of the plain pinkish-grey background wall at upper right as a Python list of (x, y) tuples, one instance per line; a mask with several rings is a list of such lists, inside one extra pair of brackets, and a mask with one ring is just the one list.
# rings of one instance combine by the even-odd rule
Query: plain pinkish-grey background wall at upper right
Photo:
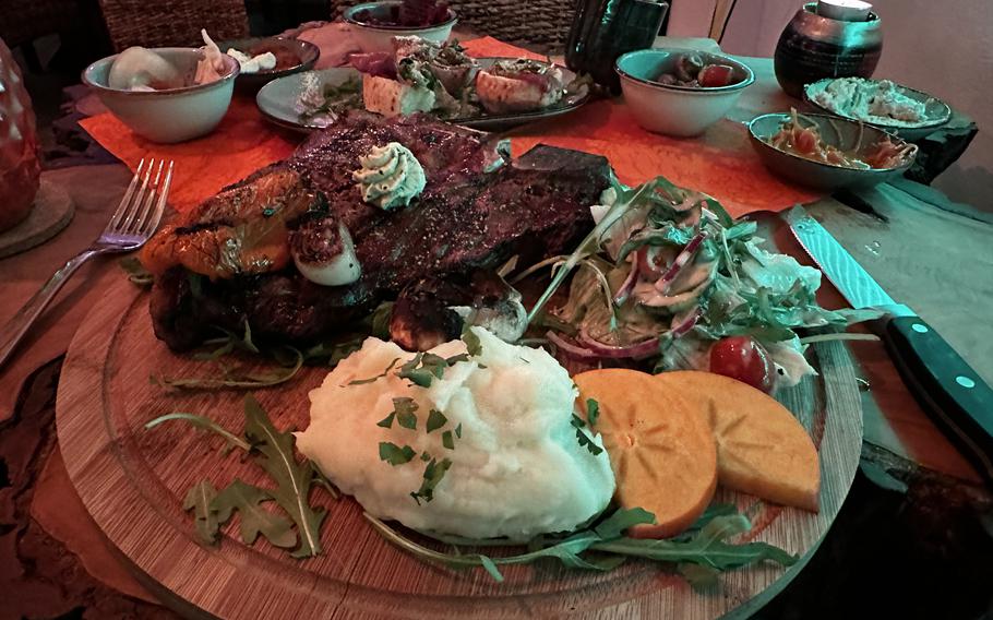
[[(979, 135), (935, 181), (953, 200), (993, 211), (993, 1), (870, 0), (883, 19), (875, 78), (932, 93), (971, 116)], [(799, 0), (739, 0), (721, 47), (771, 56)], [(675, 0), (669, 34), (706, 35), (713, 0)]]

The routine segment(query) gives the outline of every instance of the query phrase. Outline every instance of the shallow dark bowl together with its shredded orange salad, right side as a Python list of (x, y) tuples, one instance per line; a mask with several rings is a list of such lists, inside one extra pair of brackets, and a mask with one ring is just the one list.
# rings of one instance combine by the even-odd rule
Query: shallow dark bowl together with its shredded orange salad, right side
[(902, 175), (918, 147), (881, 129), (829, 115), (762, 115), (749, 123), (773, 174), (818, 190), (865, 188)]

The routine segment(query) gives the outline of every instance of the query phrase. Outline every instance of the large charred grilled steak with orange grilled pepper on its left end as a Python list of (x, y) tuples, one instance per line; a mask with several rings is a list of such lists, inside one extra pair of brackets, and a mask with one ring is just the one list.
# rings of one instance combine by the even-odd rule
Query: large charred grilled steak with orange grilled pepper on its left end
[[(419, 199), (392, 212), (362, 202), (351, 178), (360, 156), (388, 142), (408, 147), (428, 181)], [(314, 342), (408, 285), (468, 282), (514, 254), (528, 264), (569, 251), (591, 226), (588, 207), (608, 187), (607, 160), (539, 145), (506, 162), (502, 146), (426, 116), (343, 117), (148, 242), (141, 258), (156, 276), (156, 335), (183, 350), (248, 321), (259, 338)], [(361, 277), (354, 284), (314, 284), (290, 255), (295, 236), (332, 224), (344, 224), (355, 241)]]

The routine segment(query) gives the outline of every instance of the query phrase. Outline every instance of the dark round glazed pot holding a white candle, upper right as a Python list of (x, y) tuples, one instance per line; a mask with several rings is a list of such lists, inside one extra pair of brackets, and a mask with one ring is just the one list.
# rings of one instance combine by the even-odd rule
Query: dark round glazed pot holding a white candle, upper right
[(788, 95), (803, 96), (803, 86), (824, 78), (871, 78), (883, 53), (880, 16), (845, 22), (817, 14), (804, 4), (776, 45), (776, 79)]

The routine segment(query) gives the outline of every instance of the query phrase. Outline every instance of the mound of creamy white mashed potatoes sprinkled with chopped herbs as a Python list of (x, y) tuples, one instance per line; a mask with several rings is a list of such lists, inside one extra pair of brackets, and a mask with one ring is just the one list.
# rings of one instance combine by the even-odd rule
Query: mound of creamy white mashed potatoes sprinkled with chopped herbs
[[(614, 490), (607, 452), (594, 456), (576, 441), (570, 424), (575, 385), (545, 350), (472, 331), (482, 345), (480, 355), (455, 362), (430, 388), (396, 377), (396, 368), (412, 354), (367, 339), (311, 391), (310, 427), (297, 433), (297, 446), (369, 513), (416, 529), (514, 540), (574, 529), (600, 513)], [(455, 341), (432, 353), (448, 358), (465, 350)], [(381, 374), (396, 358), (386, 377), (349, 385)], [(393, 398), (405, 396), (418, 404), (417, 428), (376, 426), (394, 410)], [(428, 433), (432, 408), (447, 424)], [(443, 432), (454, 434), (458, 425), (462, 438), (448, 450)], [(602, 445), (599, 436), (594, 441)], [(417, 456), (393, 466), (380, 460), (380, 442), (409, 445)], [(451, 460), (452, 466), (434, 499), (418, 503), (410, 493), (421, 486), (424, 452)]]

